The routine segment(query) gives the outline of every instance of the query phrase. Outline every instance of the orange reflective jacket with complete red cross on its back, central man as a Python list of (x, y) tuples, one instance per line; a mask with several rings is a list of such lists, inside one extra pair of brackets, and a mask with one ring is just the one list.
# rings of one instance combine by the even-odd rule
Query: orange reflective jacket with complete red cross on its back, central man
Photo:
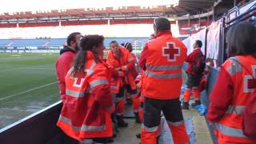
[(150, 40), (147, 46), (142, 94), (154, 99), (179, 98), (186, 46), (178, 38), (173, 38), (170, 32)]

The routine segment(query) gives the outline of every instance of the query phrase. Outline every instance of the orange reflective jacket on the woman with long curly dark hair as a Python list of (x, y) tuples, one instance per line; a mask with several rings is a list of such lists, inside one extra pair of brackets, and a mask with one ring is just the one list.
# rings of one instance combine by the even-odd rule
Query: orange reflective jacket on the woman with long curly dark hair
[(84, 73), (66, 75), (66, 95), (57, 125), (70, 137), (106, 138), (112, 136), (110, 113), (114, 110), (106, 63), (94, 61), (86, 53)]

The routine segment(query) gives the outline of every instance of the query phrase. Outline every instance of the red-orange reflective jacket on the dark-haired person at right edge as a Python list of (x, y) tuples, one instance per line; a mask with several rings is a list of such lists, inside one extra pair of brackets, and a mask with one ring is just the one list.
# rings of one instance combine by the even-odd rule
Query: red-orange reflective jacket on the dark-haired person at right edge
[[(251, 55), (233, 58), (255, 76), (256, 58)], [(238, 62), (229, 58), (222, 64), (220, 75), (210, 94), (207, 118), (214, 122), (219, 143), (253, 144), (256, 141), (247, 138), (242, 132), (242, 114), (250, 92), (256, 89), (256, 85), (249, 72)]]

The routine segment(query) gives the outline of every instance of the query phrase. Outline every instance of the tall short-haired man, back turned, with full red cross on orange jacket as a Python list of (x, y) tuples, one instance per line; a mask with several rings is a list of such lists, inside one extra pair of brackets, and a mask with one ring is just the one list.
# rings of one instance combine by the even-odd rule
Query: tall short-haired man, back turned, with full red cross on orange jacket
[(174, 38), (167, 18), (154, 19), (155, 38), (146, 42), (139, 65), (145, 70), (142, 78), (144, 116), (142, 144), (156, 144), (161, 112), (170, 128), (174, 143), (189, 142), (182, 116), (179, 96), (182, 87), (182, 65), (186, 46)]

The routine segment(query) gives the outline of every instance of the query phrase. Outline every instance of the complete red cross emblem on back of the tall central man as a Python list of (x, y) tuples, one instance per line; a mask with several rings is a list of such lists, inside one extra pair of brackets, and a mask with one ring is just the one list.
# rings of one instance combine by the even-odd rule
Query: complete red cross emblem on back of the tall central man
[(162, 56), (167, 57), (168, 62), (175, 62), (176, 57), (181, 55), (181, 49), (174, 42), (167, 42), (166, 45), (162, 47)]

